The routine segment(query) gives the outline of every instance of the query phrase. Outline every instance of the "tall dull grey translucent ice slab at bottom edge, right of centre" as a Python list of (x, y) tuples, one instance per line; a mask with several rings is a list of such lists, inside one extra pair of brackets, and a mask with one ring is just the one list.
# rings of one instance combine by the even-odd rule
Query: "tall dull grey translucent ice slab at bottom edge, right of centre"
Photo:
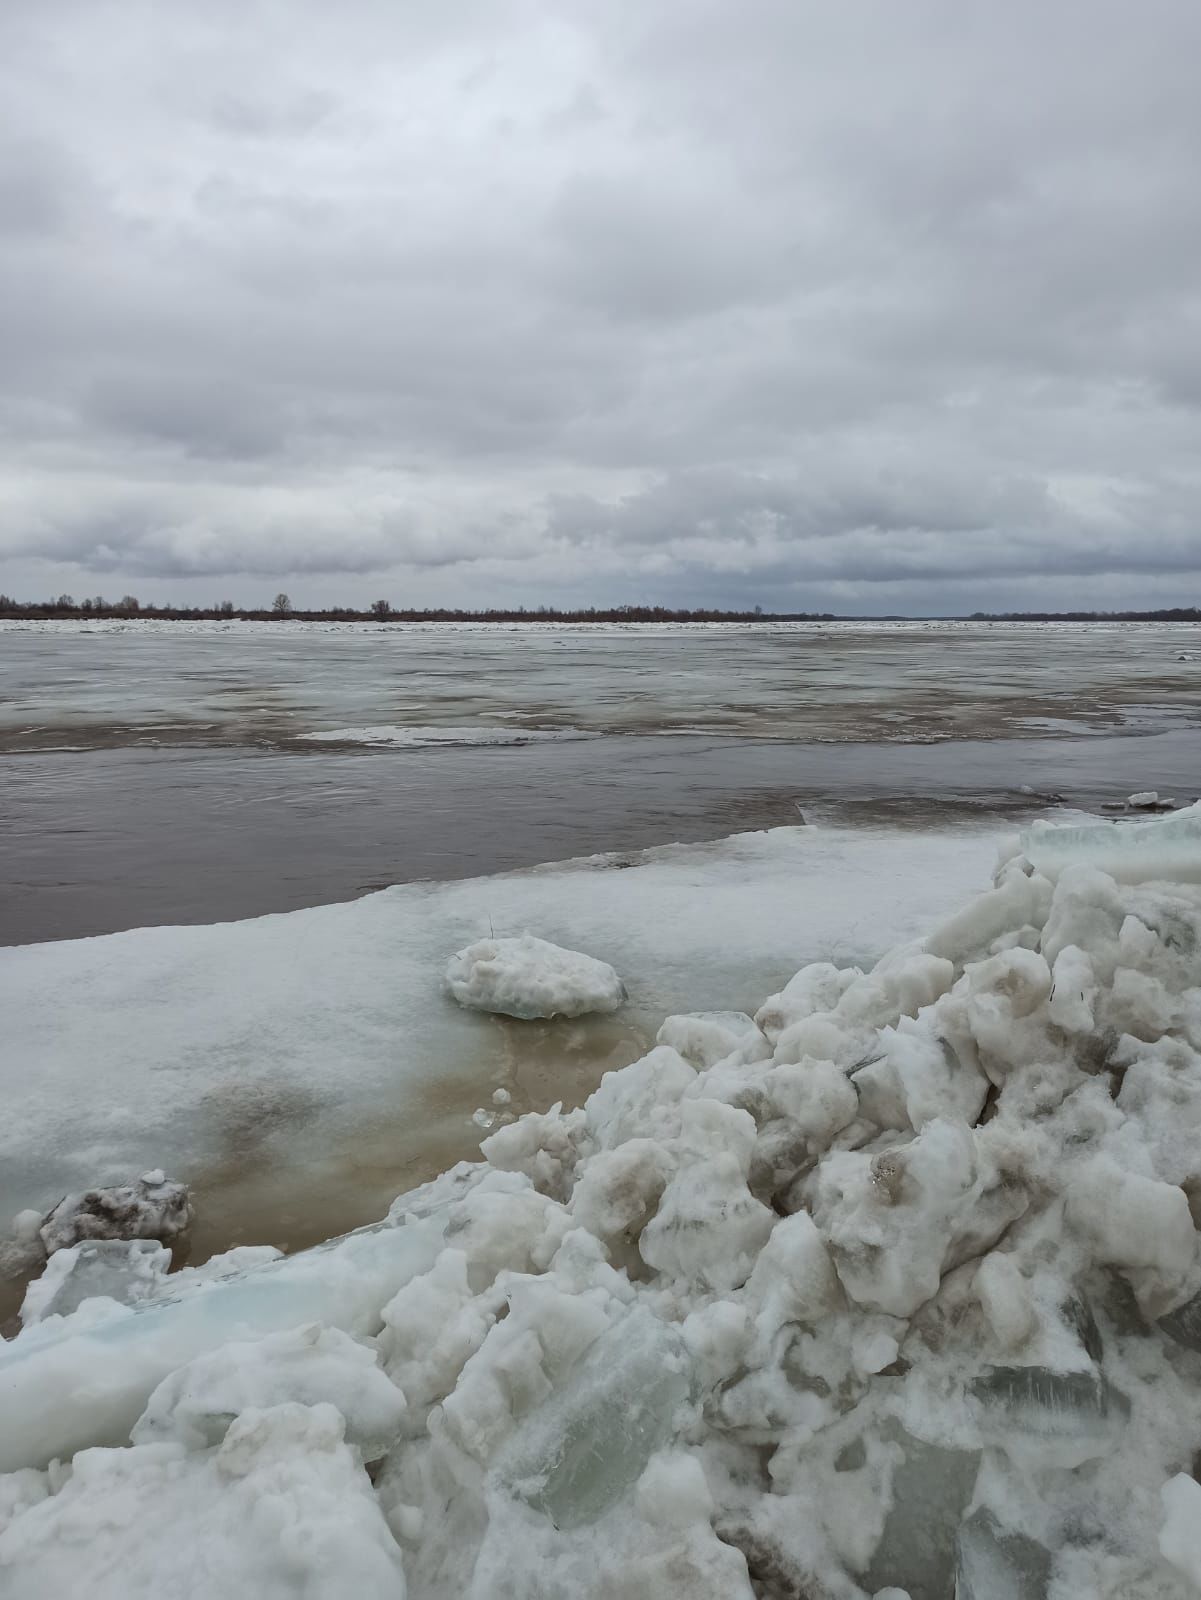
[(862, 1578), (868, 1594), (888, 1586), (910, 1600), (947, 1600), (955, 1573), (955, 1530), (968, 1509), (980, 1464), (979, 1450), (928, 1445), (897, 1424), (888, 1437), (899, 1446), (892, 1494), (872, 1563)]

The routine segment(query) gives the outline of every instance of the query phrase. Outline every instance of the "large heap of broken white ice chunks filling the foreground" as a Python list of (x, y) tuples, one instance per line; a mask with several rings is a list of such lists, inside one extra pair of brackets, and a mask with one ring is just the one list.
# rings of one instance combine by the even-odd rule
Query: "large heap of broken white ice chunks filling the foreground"
[[(1196, 1595), (1201, 890), (1046, 866), (390, 1227), (27, 1330), (0, 1592)], [(131, 1442), (45, 1470), (74, 1394)]]

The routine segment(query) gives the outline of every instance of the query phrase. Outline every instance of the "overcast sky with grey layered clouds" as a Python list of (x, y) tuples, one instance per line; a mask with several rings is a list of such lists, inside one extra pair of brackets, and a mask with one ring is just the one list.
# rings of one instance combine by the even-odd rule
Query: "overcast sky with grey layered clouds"
[(0, 589), (1201, 600), (1198, 0), (6, 0)]

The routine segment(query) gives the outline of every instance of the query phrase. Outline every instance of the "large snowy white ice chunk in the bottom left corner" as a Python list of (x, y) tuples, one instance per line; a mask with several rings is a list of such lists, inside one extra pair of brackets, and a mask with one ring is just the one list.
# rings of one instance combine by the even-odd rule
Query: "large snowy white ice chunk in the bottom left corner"
[(5, 1600), (403, 1600), (401, 1557), (331, 1405), (233, 1422), (214, 1451), (86, 1450), (5, 1531)]

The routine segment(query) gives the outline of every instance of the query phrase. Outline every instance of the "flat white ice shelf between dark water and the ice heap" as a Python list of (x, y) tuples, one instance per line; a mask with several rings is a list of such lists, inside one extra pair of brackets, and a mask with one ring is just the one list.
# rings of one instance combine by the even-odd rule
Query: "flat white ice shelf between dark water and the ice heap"
[[(0, 1218), (147, 1166), (187, 1181), (209, 1165), (304, 1168), (368, 1123), (437, 1147), (451, 1090), (461, 1120), (497, 1086), (518, 1110), (587, 1093), (672, 1011), (753, 1008), (806, 960), (872, 962), (916, 936), (987, 878), (995, 850), (987, 832), (774, 829), (2, 949)], [(456, 950), (526, 931), (609, 962), (628, 1003), (541, 1035), (451, 1000)], [(549, 1066), (531, 1090), (534, 1046)]]

